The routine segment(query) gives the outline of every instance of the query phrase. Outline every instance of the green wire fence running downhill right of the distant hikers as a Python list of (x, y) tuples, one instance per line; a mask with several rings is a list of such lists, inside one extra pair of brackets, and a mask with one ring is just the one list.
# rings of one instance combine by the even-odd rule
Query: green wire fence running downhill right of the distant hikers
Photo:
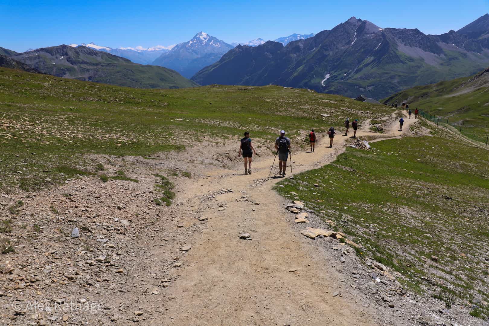
[[(461, 125), (460, 125), (460, 120), (453, 121), (453, 123), (451, 123), (450, 118), (442, 117), (440, 115), (436, 115), (424, 110), (419, 110), (418, 116), (421, 116), (422, 118), (428, 121), (436, 123), (437, 126), (442, 125), (442, 126), (450, 126), (452, 128), (455, 128), (456, 130), (458, 130), (459, 135), (464, 135), (467, 138), (481, 142), (485, 144), (486, 147), (488, 147), (489, 125), (478, 125), (478, 126), (473, 124), (465, 125), (464, 120), (462, 120)], [(455, 122), (457, 122), (458, 124), (454, 124)]]

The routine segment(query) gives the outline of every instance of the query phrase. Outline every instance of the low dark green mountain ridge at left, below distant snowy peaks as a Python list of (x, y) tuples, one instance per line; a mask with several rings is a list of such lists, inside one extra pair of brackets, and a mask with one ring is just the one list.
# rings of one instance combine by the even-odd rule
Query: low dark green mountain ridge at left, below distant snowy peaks
[(86, 46), (44, 47), (17, 53), (10, 58), (57, 77), (140, 88), (196, 86), (176, 71), (159, 66), (134, 64), (128, 59)]

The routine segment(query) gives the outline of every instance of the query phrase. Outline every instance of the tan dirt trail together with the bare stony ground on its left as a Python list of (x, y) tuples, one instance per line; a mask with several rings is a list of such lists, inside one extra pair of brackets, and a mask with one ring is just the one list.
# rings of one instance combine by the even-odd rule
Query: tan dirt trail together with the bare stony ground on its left
[[(385, 133), (365, 130), (366, 121), (357, 137), (400, 138), (416, 122), (406, 117), (400, 132), (399, 117), (386, 119)], [(293, 174), (332, 162), (354, 142), (352, 129), (341, 133), (331, 149), (327, 135), (318, 137), (315, 152), (292, 142), (286, 177), (292, 175), (290, 158)], [(104, 173), (124, 169), (138, 182), (80, 176), (39, 193), (2, 194), (4, 215), (5, 205), (25, 202), (14, 217), (25, 229), (16, 230), (33, 236), (0, 264), (6, 289), (0, 325), (412, 325), (416, 316), (400, 322), (403, 306), (389, 310), (380, 299), (399, 289), (392, 275), (382, 274), (384, 283), (378, 283), (353, 248), (300, 233), (325, 223), (313, 214), (309, 224), (294, 222), (285, 209), (290, 199), (273, 189), (282, 180), (273, 177), (278, 160), (268, 176), (274, 160), (269, 145), (253, 157), (251, 175), (236, 158), (237, 142), (203, 143), (151, 158), (88, 157), (104, 162)], [(172, 172), (179, 173), (171, 176), (177, 196), (171, 206), (157, 206), (156, 174)], [(37, 230), (30, 226), (37, 223)], [(75, 226), (77, 238), (70, 237)], [(241, 233), (251, 240), (240, 239)], [(360, 273), (363, 280), (355, 278)], [(27, 306), (33, 301), (101, 308), (33, 310)]]

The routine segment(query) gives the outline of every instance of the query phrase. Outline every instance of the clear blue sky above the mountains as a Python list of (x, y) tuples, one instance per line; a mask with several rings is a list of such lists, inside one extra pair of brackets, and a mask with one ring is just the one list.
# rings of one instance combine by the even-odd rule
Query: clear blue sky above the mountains
[(25, 1), (0, 0), (0, 46), (67, 43), (170, 45), (204, 31), (225, 42), (317, 33), (350, 17), (380, 27), (457, 30), (489, 12), (489, 0)]

